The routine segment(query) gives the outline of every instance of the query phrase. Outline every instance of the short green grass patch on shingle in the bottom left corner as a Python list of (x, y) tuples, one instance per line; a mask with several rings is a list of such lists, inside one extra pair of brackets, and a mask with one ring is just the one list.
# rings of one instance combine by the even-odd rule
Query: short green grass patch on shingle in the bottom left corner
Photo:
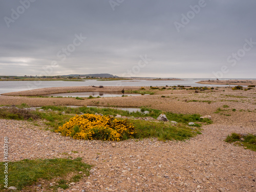
[[(18, 190), (26, 186), (36, 184), (39, 179), (48, 180), (49, 182), (56, 177), (60, 178), (57, 186), (63, 189), (67, 188), (66, 178), (68, 174), (73, 173), (72, 181), (79, 181), (83, 172), (89, 176), (91, 165), (83, 163), (82, 158), (76, 159), (25, 159), (22, 161), (8, 163), (8, 186), (15, 186)], [(79, 177), (78, 177), (79, 176)], [(0, 167), (0, 177), (4, 178), (4, 166)], [(76, 179), (73, 179), (73, 178)], [(0, 183), (0, 187), (4, 188), (4, 183)], [(50, 186), (49, 186), (50, 187)]]

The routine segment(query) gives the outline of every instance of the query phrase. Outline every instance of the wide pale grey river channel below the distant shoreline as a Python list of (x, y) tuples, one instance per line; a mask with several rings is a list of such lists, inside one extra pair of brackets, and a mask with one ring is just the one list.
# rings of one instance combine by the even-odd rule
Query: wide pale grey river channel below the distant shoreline
[(158, 81), (158, 80), (118, 80), (118, 81), (0, 81), (0, 94), (33, 90), (40, 88), (51, 87), (73, 87), (73, 86), (211, 86), (211, 87), (226, 87), (226, 85), (210, 85), (210, 84), (198, 84), (196, 82), (200, 80), (208, 79), (184, 79), (182, 81)]

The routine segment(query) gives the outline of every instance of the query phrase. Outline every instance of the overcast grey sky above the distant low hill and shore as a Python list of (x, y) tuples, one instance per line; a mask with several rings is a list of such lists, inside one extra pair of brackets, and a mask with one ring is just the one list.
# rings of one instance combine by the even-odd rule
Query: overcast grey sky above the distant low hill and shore
[(255, 0), (1, 1), (0, 75), (256, 78), (255, 8)]

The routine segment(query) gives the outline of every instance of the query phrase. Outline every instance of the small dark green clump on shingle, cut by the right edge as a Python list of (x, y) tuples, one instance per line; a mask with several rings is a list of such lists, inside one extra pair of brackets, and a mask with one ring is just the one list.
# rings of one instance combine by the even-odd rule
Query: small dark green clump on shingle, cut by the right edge
[(232, 133), (227, 136), (225, 141), (228, 143), (235, 142), (237, 145), (243, 145), (252, 151), (256, 151), (256, 135), (248, 134), (243, 137), (242, 134)]

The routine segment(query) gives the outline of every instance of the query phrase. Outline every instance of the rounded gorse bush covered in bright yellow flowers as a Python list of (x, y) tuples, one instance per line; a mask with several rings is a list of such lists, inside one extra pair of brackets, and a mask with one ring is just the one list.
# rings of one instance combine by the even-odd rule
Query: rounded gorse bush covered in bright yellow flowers
[(108, 141), (120, 141), (124, 136), (131, 137), (135, 133), (133, 124), (128, 123), (127, 119), (118, 120), (93, 114), (76, 115), (55, 132), (74, 139)]

